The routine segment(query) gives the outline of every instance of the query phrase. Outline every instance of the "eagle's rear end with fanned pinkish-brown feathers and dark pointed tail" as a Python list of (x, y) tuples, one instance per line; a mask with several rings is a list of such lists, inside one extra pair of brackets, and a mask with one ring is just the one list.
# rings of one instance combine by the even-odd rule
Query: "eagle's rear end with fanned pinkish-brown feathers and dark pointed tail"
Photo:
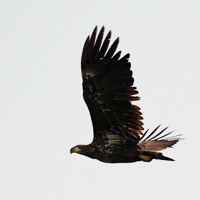
[(166, 149), (167, 147), (172, 147), (174, 144), (176, 144), (180, 140), (180, 135), (167, 137), (172, 132), (167, 133), (165, 135), (162, 135), (162, 133), (167, 129), (163, 129), (158, 134), (154, 135), (154, 133), (157, 131), (157, 129), (160, 126), (158, 126), (149, 136), (147, 136), (145, 139), (145, 135), (147, 134), (148, 130), (144, 133), (142, 136), (140, 143), (138, 146), (141, 148), (139, 155), (140, 159), (146, 162), (150, 162), (152, 159), (159, 159), (159, 160), (170, 160), (173, 161), (172, 158), (168, 158), (166, 156), (163, 156), (162, 153), (157, 152), (161, 151), (163, 149)]

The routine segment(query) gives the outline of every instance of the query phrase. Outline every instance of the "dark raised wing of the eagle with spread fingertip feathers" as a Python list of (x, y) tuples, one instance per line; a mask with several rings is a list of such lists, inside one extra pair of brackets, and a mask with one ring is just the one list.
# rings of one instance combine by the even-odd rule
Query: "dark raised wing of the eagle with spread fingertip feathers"
[(138, 91), (133, 87), (129, 54), (120, 58), (121, 52), (115, 53), (119, 38), (108, 48), (111, 32), (103, 41), (104, 27), (97, 38), (96, 33), (97, 27), (86, 39), (81, 59), (83, 97), (90, 111), (94, 137), (113, 129), (138, 142), (143, 123), (140, 108), (131, 104), (139, 97), (135, 96)]

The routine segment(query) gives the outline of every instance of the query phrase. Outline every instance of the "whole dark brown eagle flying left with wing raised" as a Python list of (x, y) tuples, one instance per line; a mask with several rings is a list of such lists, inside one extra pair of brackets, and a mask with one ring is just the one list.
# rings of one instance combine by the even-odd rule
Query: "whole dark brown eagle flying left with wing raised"
[(179, 135), (163, 134), (167, 128), (157, 131), (160, 126), (150, 134), (148, 130), (143, 133), (142, 113), (131, 103), (140, 98), (133, 85), (130, 54), (121, 57), (121, 51), (116, 53), (119, 38), (109, 47), (111, 31), (103, 40), (104, 29), (97, 35), (97, 26), (94, 28), (81, 58), (83, 98), (93, 124), (93, 141), (70, 152), (105, 163), (173, 161), (160, 151), (176, 144)]

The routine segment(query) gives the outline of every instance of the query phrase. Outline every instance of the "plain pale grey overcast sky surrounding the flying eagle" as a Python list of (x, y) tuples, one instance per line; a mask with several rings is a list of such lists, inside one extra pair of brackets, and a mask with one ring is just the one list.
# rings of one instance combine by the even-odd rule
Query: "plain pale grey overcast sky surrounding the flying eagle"
[[(144, 128), (183, 134), (175, 162), (70, 155), (93, 137), (80, 57), (96, 25), (131, 54)], [(7, 0), (0, 27), (1, 200), (198, 199), (200, 1)]]

